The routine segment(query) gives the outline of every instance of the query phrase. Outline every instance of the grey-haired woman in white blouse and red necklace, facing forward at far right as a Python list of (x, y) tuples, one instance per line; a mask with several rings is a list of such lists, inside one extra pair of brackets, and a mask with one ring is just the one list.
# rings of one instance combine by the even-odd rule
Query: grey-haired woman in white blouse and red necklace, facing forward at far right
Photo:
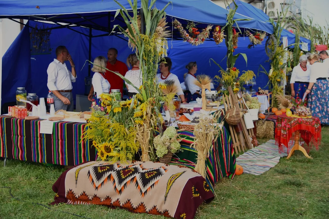
[[(308, 87), (311, 74), (311, 65), (307, 64), (307, 56), (301, 55), (299, 57), (299, 64), (292, 69), (290, 87), (291, 96), (295, 98), (296, 104), (300, 104), (303, 95)], [(305, 106), (307, 102), (304, 103)]]

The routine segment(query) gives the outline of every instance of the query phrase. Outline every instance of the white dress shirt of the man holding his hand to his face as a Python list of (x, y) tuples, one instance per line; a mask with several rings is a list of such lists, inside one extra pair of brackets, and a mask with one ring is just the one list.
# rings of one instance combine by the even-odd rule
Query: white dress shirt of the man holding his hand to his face
[(77, 78), (67, 69), (65, 63), (62, 64), (56, 58), (49, 64), (47, 74), (47, 87), (50, 91), (72, 90), (72, 82), (75, 82)]

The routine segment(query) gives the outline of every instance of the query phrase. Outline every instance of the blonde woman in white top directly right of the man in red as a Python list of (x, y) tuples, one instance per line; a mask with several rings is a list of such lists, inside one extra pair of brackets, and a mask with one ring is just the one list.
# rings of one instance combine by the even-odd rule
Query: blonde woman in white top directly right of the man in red
[[(128, 67), (132, 66), (132, 69), (129, 70), (125, 78), (127, 78), (135, 87), (139, 88), (140, 85), (142, 85), (142, 72), (139, 69), (139, 60), (136, 54), (130, 54), (127, 58), (127, 65)], [(136, 88), (134, 88), (132, 85), (126, 83), (126, 87), (128, 90), (128, 97), (133, 97), (138, 93)]]

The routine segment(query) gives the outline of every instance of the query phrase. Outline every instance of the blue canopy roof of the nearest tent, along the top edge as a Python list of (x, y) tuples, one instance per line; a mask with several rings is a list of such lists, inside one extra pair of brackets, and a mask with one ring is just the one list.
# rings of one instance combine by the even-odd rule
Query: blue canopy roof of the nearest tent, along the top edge
[[(221, 8), (210, 0), (170, 0), (172, 5), (166, 9), (170, 17), (182, 20), (195, 21), (203, 24), (224, 26), (226, 24), (227, 10)], [(127, 9), (130, 5), (127, 0), (118, 0)], [(155, 6), (163, 8), (169, 0), (157, 0)], [(138, 5), (141, 7), (140, 0)], [(39, 7), (36, 8), (36, 7)], [(140, 8), (139, 7), (139, 8)], [(122, 18), (114, 20), (114, 14), (120, 7), (113, 0), (1, 0), (0, 18), (21, 18), (29, 20), (44, 20), (76, 24), (78, 26), (92, 27), (97, 30), (112, 30), (115, 24), (124, 24)], [(236, 14), (234, 19), (246, 18)], [(171, 22), (170, 19), (167, 19)], [(239, 21), (241, 28), (255, 29), (272, 33), (273, 28), (266, 23), (251, 19)]]

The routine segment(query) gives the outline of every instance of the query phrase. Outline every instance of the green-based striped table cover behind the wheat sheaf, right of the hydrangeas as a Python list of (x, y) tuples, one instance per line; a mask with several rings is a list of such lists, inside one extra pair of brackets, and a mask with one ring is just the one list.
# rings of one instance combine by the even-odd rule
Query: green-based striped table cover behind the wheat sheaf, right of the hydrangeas
[[(181, 138), (181, 149), (176, 153), (169, 164), (188, 166), (194, 169), (197, 160), (197, 152), (190, 147), (193, 143), (193, 131), (178, 131)], [(236, 159), (232, 139), (225, 127), (222, 128), (217, 142), (209, 150), (209, 157), (206, 160), (207, 183), (214, 192), (215, 183), (223, 177), (233, 179), (235, 175)]]

